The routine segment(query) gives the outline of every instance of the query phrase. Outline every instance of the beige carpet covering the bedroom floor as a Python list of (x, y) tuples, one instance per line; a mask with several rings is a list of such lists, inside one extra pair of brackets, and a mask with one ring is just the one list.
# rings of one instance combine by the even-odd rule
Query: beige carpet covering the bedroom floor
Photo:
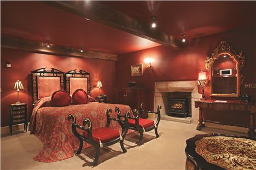
[[(119, 143), (102, 148), (98, 166), (93, 169), (185, 169), (185, 140), (200, 133), (246, 135), (209, 127), (196, 131), (195, 124), (161, 120), (159, 138), (155, 138), (154, 131), (147, 132), (144, 144), (137, 146), (138, 133), (129, 134), (124, 142), (127, 153), (121, 152)], [(34, 161), (33, 157), (42, 146), (40, 140), (29, 132), (1, 137), (1, 169), (92, 169), (93, 148), (58, 162)]]

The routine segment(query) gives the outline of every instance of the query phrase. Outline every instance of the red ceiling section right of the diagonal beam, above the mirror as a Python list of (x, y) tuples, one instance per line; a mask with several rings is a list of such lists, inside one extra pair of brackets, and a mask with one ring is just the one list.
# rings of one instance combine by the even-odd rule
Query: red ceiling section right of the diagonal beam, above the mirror
[(167, 34), (189, 38), (223, 32), (256, 23), (255, 1), (101, 1), (131, 17), (158, 27)]

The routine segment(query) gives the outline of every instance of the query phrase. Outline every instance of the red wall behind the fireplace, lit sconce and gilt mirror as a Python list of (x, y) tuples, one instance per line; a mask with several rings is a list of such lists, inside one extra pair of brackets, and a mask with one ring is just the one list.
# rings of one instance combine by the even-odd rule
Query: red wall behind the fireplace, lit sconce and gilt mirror
[[(187, 47), (173, 51), (166, 46), (159, 46), (142, 51), (131, 52), (118, 57), (117, 87), (127, 87), (127, 82), (136, 81), (138, 87), (149, 89), (149, 109), (154, 109), (155, 81), (196, 80), (198, 71), (205, 69), (206, 56), (210, 56), (222, 40), (226, 40), (237, 52), (243, 51), (246, 57), (245, 83), (256, 83), (256, 43), (255, 26), (238, 28), (228, 32), (213, 34), (188, 40)], [(143, 63), (144, 58), (151, 56), (155, 59), (152, 71), (144, 68), (143, 76), (131, 77), (131, 65)], [(206, 98), (210, 98), (210, 89), (206, 86)], [(247, 93), (256, 100), (256, 89), (241, 86), (241, 93)], [(219, 99), (234, 99), (220, 98)]]

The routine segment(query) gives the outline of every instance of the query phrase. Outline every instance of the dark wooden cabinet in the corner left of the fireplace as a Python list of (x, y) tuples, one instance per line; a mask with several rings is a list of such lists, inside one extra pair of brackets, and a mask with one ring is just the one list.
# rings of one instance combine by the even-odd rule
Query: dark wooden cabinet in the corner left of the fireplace
[[(144, 103), (143, 109), (148, 110), (147, 90), (142, 88), (124, 88), (115, 90), (115, 102), (118, 104), (129, 105), (131, 109), (139, 110), (141, 103)], [(141, 118), (148, 118), (145, 113)]]

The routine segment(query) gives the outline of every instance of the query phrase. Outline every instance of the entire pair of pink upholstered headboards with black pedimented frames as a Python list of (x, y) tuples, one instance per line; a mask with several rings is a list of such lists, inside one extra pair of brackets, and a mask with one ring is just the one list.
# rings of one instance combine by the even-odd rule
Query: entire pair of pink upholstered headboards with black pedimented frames
[(66, 90), (69, 94), (77, 89), (83, 89), (90, 95), (90, 73), (76, 69), (63, 73), (58, 69), (36, 69), (32, 75), (32, 98), (33, 104), (42, 97), (53, 95), (57, 90)]

